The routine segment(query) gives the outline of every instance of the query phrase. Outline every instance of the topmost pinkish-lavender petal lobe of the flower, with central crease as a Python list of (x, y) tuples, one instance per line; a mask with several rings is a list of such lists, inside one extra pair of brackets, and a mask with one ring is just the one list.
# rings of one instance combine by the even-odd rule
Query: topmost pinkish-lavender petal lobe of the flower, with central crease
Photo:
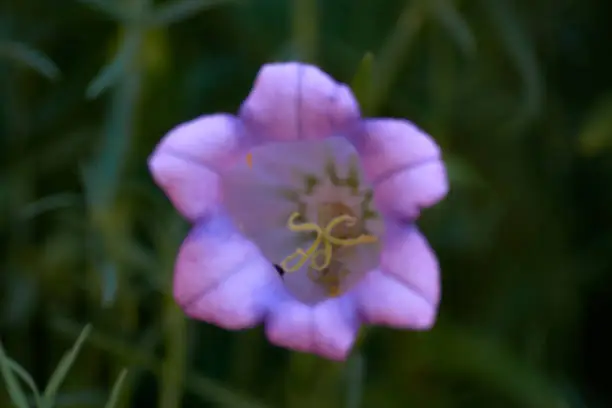
[(240, 112), (247, 128), (271, 141), (322, 139), (359, 118), (350, 89), (312, 65), (265, 65)]

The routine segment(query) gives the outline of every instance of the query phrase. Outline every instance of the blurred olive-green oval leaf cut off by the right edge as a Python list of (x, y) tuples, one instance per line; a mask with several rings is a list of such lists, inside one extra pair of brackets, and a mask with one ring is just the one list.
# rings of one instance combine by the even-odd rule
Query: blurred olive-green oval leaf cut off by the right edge
[(580, 152), (595, 155), (612, 146), (612, 96), (592, 110), (578, 136)]

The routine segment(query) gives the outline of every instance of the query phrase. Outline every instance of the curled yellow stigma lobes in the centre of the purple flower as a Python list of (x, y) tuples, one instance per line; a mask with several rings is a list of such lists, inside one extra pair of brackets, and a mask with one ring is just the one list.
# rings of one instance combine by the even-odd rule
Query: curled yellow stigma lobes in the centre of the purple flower
[[(323, 271), (327, 268), (332, 259), (332, 245), (348, 247), (355, 246), (359, 244), (368, 244), (372, 242), (376, 242), (376, 237), (371, 235), (360, 235), (357, 238), (352, 239), (340, 239), (335, 238), (331, 235), (331, 231), (334, 227), (341, 223), (347, 223), (349, 226), (355, 225), (357, 219), (353, 216), (344, 214), (338, 217), (333, 218), (327, 226), (322, 229), (317, 224), (312, 222), (305, 222), (302, 224), (297, 224), (295, 222), (296, 218), (300, 216), (299, 213), (293, 213), (289, 217), (287, 221), (287, 228), (294, 232), (316, 232), (317, 238), (312, 243), (312, 245), (304, 251), (301, 248), (298, 248), (293, 254), (289, 255), (281, 262), (281, 267), (286, 272), (295, 272), (300, 269), (306, 261), (310, 258), (310, 267), (317, 271)], [(320, 245), (323, 245), (322, 249), (319, 249)], [(319, 262), (319, 259), (322, 257), (322, 261)], [(296, 258), (300, 258), (293, 266), (289, 266), (288, 263), (293, 261)]]

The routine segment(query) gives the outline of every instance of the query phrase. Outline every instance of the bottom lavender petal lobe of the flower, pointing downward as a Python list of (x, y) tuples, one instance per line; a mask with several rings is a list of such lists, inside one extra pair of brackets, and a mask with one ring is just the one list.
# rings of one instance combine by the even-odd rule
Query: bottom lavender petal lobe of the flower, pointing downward
[(286, 295), (271, 310), (266, 334), (276, 345), (344, 360), (355, 342), (359, 325), (350, 296), (309, 307)]

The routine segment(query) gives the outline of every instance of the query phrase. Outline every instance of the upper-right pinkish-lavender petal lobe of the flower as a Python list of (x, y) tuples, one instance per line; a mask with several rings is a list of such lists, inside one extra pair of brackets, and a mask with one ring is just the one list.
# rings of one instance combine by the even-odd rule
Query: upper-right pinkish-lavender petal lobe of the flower
[(379, 211), (414, 218), (441, 200), (448, 179), (435, 141), (406, 120), (371, 119), (350, 140), (375, 189)]

